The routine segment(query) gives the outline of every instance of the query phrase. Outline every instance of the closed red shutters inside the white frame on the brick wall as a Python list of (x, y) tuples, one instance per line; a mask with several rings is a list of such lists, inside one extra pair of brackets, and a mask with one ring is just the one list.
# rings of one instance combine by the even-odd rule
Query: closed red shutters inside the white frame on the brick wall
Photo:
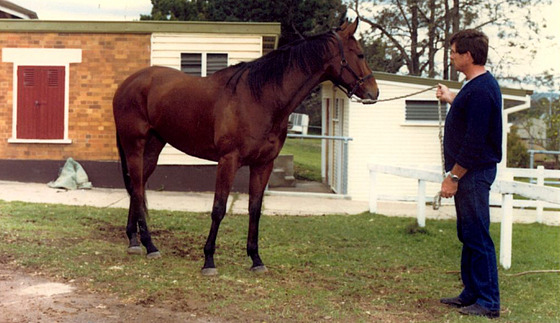
[(18, 139), (64, 139), (64, 67), (18, 68)]

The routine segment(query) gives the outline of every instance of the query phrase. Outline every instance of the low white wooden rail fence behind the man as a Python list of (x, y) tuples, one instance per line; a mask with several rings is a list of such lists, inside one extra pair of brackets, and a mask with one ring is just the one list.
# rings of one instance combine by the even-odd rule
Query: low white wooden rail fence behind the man
[[(442, 174), (422, 169), (414, 169), (409, 167), (389, 166), (368, 164), (370, 173), (370, 198), (369, 210), (374, 213), (377, 211), (378, 192), (380, 189), (376, 185), (376, 174), (391, 174), (407, 178), (416, 178), (418, 180), (418, 196), (417, 196), (417, 221), (420, 227), (426, 225), (426, 182), (441, 183)], [(536, 178), (537, 184), (528, 184), (513, 181), (514, 177)], [(542, 222), (542, 214), (544, 207), (560, 208), (560, 189), (550, 186), (544, 186), (545, 178), (560, 178), (560, 170), (545, 170), (542, 166), (538, 169), (521, 169), (506, 168), (500, 171), (499, 178), (492, 185), (492, 191), (502, 195), (502, 220), (500, 235), (500, 264), (505, 268), (511, 267), (511, 245), (513, 230), (513, 207), (536, 207), (537, 221)], [(515, 200), (513, 195), (524, 196), (530, 200)]]

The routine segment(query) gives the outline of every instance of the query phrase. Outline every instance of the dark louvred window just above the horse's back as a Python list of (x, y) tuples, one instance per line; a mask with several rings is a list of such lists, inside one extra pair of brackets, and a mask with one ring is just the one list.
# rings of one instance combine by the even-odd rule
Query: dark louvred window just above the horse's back
[(181, 53), (181, 71), (193, 76), (209, 76), (228, 66), (227, 54)]

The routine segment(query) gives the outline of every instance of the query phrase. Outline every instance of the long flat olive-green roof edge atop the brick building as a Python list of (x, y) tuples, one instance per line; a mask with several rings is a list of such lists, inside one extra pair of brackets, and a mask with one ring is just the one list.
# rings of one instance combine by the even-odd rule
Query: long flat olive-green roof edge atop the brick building
[[(2, 2), (0, 0), (0, 2)], [(3, 1), (7, 2), (7, 1)], [(209, 22), (209, 21), (68, 21), (0, 19), (0, 32), (64, 33), (218, 33), (280, 35), (276, 22)]]

